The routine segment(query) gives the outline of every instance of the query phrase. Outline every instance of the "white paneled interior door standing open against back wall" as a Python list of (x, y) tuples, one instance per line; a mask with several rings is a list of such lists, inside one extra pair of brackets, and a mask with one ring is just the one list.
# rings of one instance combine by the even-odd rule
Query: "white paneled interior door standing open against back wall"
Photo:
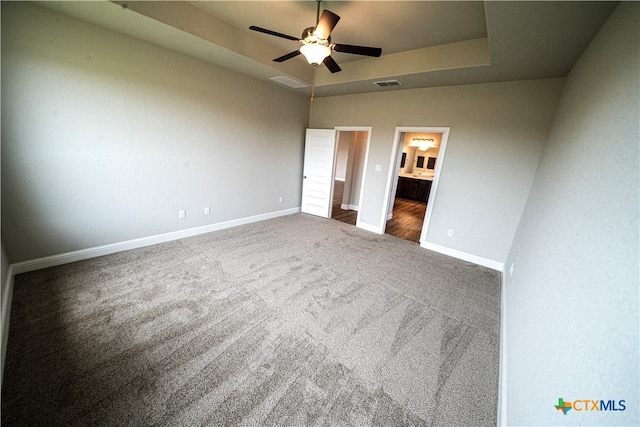
[(323, 218), (331, 217), (335, 129), (307, 129), (300, 210)]

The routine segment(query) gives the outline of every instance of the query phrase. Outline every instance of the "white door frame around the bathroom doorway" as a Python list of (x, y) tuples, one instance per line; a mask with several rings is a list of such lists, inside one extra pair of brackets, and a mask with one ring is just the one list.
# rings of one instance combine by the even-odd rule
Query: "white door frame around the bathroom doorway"
[(424, 217), (424, 223), (422, 224), (422, 232), (420, 233), (420, 246), (424, 247), (427, 239), (427, 232), (429, 230), (429, 224), (431, 223), (431, 213), (433, 212), (433, 202), (436, 199), (436, 192), (438, 190), (438, 183), (440, 182), (440, 173), (444, 166), (445, 154), (447, 151), (447, 141), (449, 140), (450, 127), (407, 127), (396, 126), (395, 136), (393, 138), (393, 147), (391, 148), (391, 162), (389, 164), (389, 176), (387, 178), (387, 186), (385, 189), (386, 208), (382, 210), (382, 233), (384, 233), (387, 227), (387, 218), (393, 211), (393, 198), (395, 194), (392, 194), (394, 184), (398, 180), (398, 174), (400, 173), (400, 162), (402, 160), (403, 144), (400, 144), (400, 136), (403, 133), (408, 132), (420, 132), (420, 133), (441, 133), (442, 141), (440, 142), (440, 152), (438, 154), (438, 166), (436, 167), (436, 173), (433, 177), (433, 184), (431, 184), (431, 192), (429, 193), (429, 200), (427, 201), (427, 211)]

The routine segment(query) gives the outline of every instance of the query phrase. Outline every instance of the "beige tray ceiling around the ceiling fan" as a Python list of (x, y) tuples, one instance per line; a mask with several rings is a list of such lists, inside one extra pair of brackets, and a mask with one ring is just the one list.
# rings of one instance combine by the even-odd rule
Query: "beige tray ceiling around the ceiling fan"
[[(299, 44), (249, 30), (300, 37), (316, 20), (315, 1), (38, 2), (207, 62), (268, 80), (311, 85), (302, 56), (271, 60)], [(317, 68), (316, 96), (564, 77), (617, 2), (325, 1), (341, 19), (334, 43), (382, 48), (380, 58), (334, 52), (342, 67)], [(397, 79), (379, 88), (374, 81)], [(279, 83), (273, 83), (279, 84)], [(310, 93), (310, 87), (291, 89)]]

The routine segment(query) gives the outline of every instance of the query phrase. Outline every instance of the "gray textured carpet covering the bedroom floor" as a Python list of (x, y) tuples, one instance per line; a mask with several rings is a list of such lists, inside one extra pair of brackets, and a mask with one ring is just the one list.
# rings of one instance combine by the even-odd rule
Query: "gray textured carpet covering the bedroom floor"
[(493, 426), (499, 273), (296, 214), (16, 276), (10, 425)]

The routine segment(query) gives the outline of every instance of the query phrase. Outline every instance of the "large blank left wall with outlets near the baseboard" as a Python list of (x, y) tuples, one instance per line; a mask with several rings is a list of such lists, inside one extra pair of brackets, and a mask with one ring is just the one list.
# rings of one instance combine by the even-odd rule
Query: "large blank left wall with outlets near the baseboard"
[(299, 207), (308, 104), (33, 4), (3, 2), (9, 260)]

